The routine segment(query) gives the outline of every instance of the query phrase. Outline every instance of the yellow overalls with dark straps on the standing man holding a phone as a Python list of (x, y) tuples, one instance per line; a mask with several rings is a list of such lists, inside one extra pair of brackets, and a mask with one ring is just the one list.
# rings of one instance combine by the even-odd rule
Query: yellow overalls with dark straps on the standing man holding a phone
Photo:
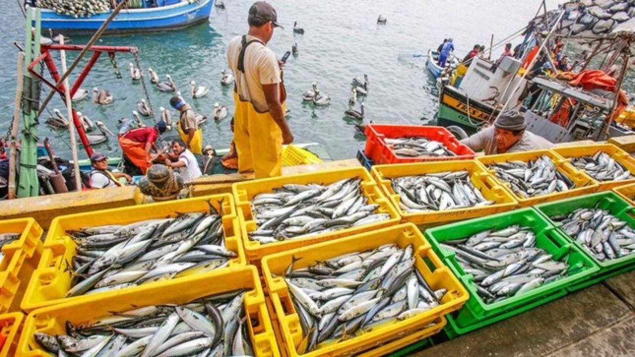
[[(243, 37), (243, 48), (239, 56), (239, 69), (244, 59), (244, 50), (253, 42), (246, 42)], [(244, 72), (244, 70), (241, 70)], [(286, 111), (286, 92), (281, 86), (282, 111)], [(234, 143), (238, 153), (238, 172), (253, 170), (256, 179), (282, 175), (282, 131), (271, 117), (271, 112), (258, 112), (251, 102), (241, 100), (234, 90)]]

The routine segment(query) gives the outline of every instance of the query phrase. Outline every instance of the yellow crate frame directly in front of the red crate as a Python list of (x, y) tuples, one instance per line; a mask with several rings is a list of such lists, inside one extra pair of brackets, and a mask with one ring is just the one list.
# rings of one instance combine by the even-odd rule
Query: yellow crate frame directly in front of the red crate
[[(406, 212), (399, 207), (401, 197), (392, 189), (390, 179), (425, 173), (457, 172), (462, 170), (469, 172), (470, 180), (474, 187), (479, 189), (486, 199), (494, 201), (494, 205), (434, 212)], [(513, 210), (518, 206), (518, 201), (502, 185), (498, 184), (483, 166), (474, 160), (378, 165), (373, 166), (372, 173), (377, 183), (382, 187), (384, 194), (391, 200), (392, 205), (401, 215), (403, 222), (431, 226), (455, 220), (493, 215), (494, 213)]]

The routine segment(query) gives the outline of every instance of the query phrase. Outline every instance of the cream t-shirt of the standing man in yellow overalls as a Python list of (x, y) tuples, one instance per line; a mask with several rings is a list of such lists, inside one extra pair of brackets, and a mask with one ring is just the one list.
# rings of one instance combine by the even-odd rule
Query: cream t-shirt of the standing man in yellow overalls
[[(244, 74), (238, 71), (238, 57), (243, 36), (234, 37), (227, 46), (227, 64), (234, 72), (237, 93), (241, 100), (249, 101), (257, 112), (268, 112), (263, 84), (280, 83), (280, 67), (276, 54), (262, 43), (255, 42), (244, 51)], [(257, 39), (247, 35), (247, 42)]]

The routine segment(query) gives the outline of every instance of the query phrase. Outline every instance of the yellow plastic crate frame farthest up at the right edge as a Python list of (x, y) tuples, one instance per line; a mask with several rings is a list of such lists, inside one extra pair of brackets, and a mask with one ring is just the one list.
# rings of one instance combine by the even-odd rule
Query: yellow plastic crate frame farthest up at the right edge
[[(580, 145), (580, 146), (563, 146), (563, 147), (554, 147), (551, 151), (556, 152), (563, 158), (571, 161), (571, 158), (579, 158), (580, 156), (592, 156), (598, 151), (606, 152), (612, 159), (615, 160), (616, 163), (624, 166), (626, 170), (629, 170), (632, 175), (635, 175), (635, 159), (631, 158), (628, 152), (620, 149), (619, 147), (613, 144), (596, 144), (596, 145)], [(580, 169), (577, 169), (580, 170)], [(580, 170), (584, 172), (585, 175), (587, 173), (584, 170)], [(632, 184), (635, 182), (635, 179), (627, 179), (622, 181), (603, 181), (600, 182), (591, 175), (589, 179), (593, 180), (596, 184), (598, 184), (598, 191), (606, 191), (610, 190), (613, 187)]]

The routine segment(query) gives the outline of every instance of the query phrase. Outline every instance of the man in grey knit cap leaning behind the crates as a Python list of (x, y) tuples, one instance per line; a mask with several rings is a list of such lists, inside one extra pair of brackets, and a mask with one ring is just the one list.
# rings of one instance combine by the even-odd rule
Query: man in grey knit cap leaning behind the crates
[(523, 114), (505, 111), (500, 114), (493, 126), (461, 140), (461, 143), (473, 151), (483, 150), (486, 155), (549, 149), (553, 146), (545, 138), (526, 131), (526, 126)]

